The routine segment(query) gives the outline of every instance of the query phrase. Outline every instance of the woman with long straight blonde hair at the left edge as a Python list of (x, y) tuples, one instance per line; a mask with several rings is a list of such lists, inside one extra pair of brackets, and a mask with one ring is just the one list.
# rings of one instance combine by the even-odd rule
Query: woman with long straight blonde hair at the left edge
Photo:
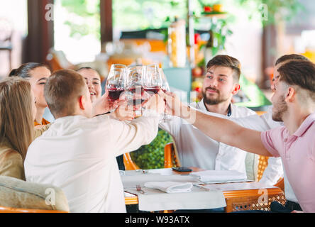
[(33, 138), (35, 96), (31, 84), (13, 77), (0, 82), (0, 175), (25, 180), (23, 162)]

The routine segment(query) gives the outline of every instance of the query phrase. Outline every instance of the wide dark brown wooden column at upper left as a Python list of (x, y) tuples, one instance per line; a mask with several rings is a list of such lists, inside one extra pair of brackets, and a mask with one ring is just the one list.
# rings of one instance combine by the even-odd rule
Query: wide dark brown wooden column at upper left
[(53, 3), (53, 0), (28, 0), (26, 62), (45, 62), (48, 50), (54, 46), (53, 18), (49, 17), (53, 15), (49, 13), (52, 8), (45, 9)]

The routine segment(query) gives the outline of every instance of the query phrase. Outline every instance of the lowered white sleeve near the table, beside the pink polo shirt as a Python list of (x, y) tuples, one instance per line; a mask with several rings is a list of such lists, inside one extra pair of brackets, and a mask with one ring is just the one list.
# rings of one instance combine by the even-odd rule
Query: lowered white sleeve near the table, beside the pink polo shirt
[(260, 182), (267, 185), (275, 185), (280, 177), (283, 177), (281, 157), (270, 157)]

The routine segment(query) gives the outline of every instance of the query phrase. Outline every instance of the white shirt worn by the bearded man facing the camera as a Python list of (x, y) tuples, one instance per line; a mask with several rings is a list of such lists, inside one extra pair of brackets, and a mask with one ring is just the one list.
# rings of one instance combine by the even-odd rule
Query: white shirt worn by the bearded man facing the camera
[[(191, 106), (204, 114), (209, 114), (203, 100)], [(253, 114), (255, 111), (231, 104), (231, 117), (238, 118)], [(245, 151), (213, 140), (182, 118), (173, 117), (171, 121), (162, 122), (159, 126), (174, 138), (182, 166), (199, 167), (204, 170), (246, 172)]]

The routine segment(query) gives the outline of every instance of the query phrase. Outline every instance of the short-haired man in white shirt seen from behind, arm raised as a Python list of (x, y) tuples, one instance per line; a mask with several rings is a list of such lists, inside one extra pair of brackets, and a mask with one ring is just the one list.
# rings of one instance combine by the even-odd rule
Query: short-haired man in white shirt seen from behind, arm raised
[(92, 106), (84, 78), (72, 70), (52, 74), (45, 99), (56, 121), (28, 148), (26, 180), (60, 187), (70, 212), (126, 212), (116, 156), (155, 138), (164, 100), (153, 96), (147, 109), (155, 114), (132, 123), (96, 116), (108, 111), (107, 96)]

